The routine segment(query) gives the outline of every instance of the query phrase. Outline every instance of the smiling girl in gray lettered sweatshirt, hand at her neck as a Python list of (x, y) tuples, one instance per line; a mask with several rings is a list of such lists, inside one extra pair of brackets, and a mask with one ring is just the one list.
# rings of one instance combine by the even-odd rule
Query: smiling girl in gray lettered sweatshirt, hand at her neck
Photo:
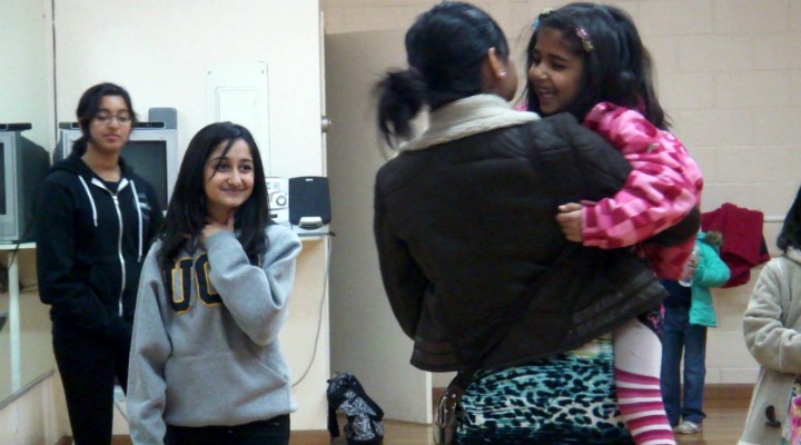
[(134, 443), (289, 443), (297, 404), (277, 336), (299, 253), (270, 220), (250, 132), (218, 122), (195, 135), (139, 286)]

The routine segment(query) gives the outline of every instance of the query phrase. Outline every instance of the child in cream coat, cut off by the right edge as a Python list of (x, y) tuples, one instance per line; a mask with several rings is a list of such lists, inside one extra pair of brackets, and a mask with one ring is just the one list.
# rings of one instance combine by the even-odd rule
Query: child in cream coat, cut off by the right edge
[(762, 268), (743, 315), (760, 370), (739, 445), (801, 444), (801, 189), (777, 246), (782, 255)]

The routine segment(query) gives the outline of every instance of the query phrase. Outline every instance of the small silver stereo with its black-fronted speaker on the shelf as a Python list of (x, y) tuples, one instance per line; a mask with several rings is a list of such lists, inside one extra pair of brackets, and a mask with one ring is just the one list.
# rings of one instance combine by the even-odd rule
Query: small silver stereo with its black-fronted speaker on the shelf
[(267, 178), (270, 216), (299, 237), (329, 235), (332, 220), (328, 178)]

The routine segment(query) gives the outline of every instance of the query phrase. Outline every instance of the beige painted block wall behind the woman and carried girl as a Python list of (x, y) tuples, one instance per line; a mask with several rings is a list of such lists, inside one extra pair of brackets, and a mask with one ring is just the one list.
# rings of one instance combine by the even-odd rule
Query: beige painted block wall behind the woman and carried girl
[[(435, 0), (322, 0), (326, 33), (406, 29)], [(565, 1), (483, 0), (523, 67), (526, 31), (545, 7)], [(705, 177), (703, 211), (723, 202), (762, 210), (775, 235), (801, 176), (801, 1), (631, 0), (627, 10), (652, 51), (662, 105)], [(358, 61), (355, 61), (358, 62)], [(521, 72), (522, 75), (522, 72)], [(336, 121), (336, 117), (333, 117)], [(742, 340), (741, 315), (753, 280), (715, 290), (708, 383), (750, 383), (756, 364)], [(402, 352), (407, 354), (407, 352)], [(434, 386), (443, 379), (435, 376)]]

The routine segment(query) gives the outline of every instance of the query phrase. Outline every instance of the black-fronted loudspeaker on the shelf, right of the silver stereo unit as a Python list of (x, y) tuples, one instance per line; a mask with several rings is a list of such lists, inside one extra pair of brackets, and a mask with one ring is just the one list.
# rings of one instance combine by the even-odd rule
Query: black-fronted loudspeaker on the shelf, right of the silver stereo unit
[(289, 178), (289, 224), (304, 230), (317, 230), (330, 222), (328, 178)]

